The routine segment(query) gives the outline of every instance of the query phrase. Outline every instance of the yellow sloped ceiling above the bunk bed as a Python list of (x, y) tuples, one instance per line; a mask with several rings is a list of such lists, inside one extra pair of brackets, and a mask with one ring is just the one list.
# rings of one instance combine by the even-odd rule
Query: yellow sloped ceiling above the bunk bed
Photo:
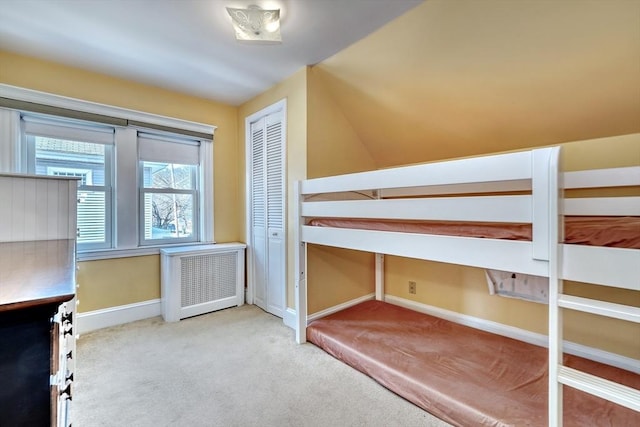
[(378, 167), (640, 132), (640, 1), (429, 0), (314, 72)]

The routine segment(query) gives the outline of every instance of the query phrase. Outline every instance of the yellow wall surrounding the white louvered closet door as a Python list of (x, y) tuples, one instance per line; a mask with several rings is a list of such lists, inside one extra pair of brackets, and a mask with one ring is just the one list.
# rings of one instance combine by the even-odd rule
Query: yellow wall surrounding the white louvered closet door
[[(287, 134), (286, 134), (286, 182), (287, 182), (287, 306), (294, 307), (294, 206), (293, 183), (304, 179), (307, 173), (307, 69), (304, 68), (288, 79), (278, 83), (268, 91), (241, 105), (238, 109), (238, 145), (240, 156), (239, 169), (243, 171), (240, 177), (240, 191), (246, 189), (246, 149), (245, 149), (245, 119), (254, 113), (282, 100), (287, 100)], [(246, 215), (246, 200), (241, 201), (240, 220), (244, 224)], [(243, 238), (246, 230), (243, 228)]]

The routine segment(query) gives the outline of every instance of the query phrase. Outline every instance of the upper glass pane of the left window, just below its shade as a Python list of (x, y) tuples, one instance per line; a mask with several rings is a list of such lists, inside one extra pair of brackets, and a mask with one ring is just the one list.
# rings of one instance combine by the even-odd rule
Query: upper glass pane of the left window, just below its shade
[(77, 176), (81, 185), (104, 185), (105, 146), (90, 142), (35, 137), (36, 174)]

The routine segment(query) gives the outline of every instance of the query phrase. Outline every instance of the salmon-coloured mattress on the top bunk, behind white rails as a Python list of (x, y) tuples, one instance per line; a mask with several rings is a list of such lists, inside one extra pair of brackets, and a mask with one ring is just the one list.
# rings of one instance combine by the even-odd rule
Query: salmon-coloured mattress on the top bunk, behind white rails
[[(640, 249), (640, 217), (565, 217), (565, 243)], [(403, 233), (531, 240), (531, 224), (314, 218), (309, 225)]]

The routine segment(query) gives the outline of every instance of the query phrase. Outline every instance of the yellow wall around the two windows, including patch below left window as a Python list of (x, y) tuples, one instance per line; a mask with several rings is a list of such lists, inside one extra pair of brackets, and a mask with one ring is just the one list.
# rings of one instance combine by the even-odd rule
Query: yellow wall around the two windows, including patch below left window
[[(215, 238), (241, 240), (237, 109), (163, 88), (134, 83), (0, 51), (0, 83), (217, 126), (214, 142)], [(160, 298), (159, 257), (81, 262), (79, 310), (92, 311)]]

